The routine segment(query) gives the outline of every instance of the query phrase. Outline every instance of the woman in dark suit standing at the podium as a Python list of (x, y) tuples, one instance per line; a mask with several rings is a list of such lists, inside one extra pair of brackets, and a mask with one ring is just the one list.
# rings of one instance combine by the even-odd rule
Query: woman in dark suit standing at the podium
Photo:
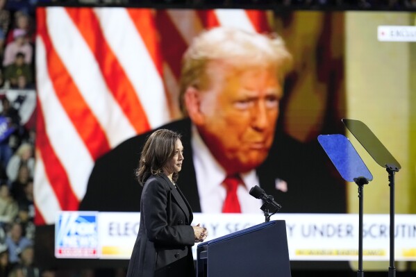
[(192, 210), (175, 184), (182, 162), (181, 136), (173, 131), (155, 131), (144, 144), (136, 172), (144, 184), (140, 228), (127, 277), (195, 276), (192, 245), (208, 232), (190, 226)]

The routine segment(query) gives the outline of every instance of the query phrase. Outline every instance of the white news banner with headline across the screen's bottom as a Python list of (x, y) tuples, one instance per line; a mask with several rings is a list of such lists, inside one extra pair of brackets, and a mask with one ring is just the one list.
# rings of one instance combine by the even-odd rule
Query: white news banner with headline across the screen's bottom
[[(272, 220), (285, 220), (290, 260), (358, 258), (358, 215), (278, 214)], [(208, 228), (208, 240), (213, 240), (263, 221), (261, 214), (195, 213), (192, 224)], [(389, 215), (365, 215), (364, 260), (389, 260), (389, 222)], [(56, 219), (56, 257), (128, 260), (139, 224), (139, 212), (60, 212)], [(394, 244), (395, 260), (416, 261), (416, 215), (396, 215)], [(193, 251), (196, 258), (197, 245)]]

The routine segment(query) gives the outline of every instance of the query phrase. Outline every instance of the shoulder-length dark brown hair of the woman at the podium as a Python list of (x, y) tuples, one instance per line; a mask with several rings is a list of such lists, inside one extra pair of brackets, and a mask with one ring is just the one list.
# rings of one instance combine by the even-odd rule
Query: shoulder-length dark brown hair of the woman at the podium
[[(163, 173), (163, 167), (174, 156), (176, 140), (181, 140), (181, 135), (167, 129), (160, 129), (149, 135), (143, 146), (136, 171), (140, 185), (144, 185), (151, 175)], [(178, 173), (174, 172), (172, 180), (177, 179)]]

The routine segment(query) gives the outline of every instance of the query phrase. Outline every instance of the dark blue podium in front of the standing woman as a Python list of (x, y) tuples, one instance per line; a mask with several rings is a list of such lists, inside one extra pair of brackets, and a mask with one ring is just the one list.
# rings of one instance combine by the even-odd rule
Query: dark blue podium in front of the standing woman
[(197, 277), (291, 277), (284, 220), (240, 230), (197, 247)]

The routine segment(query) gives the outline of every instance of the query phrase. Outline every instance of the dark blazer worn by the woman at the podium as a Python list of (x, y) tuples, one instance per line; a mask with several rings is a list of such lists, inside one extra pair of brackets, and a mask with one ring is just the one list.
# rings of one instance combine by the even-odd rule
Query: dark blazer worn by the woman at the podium
[(140, 211), (127, 277), (194, 276), (193, 216), (181, 190), (165, 174), (149, 177)]

